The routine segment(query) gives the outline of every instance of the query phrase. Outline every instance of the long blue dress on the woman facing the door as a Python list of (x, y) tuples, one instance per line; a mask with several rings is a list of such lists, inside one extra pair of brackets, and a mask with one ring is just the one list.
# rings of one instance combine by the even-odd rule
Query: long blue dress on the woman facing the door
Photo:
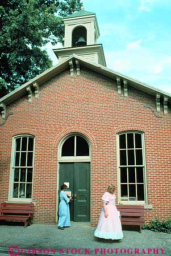
[(60, 205), (59, 205), (59, 227), (70, 226), (70, 214), (69, 214), (69, 198), (66, 196), (65, 192), (61, 190), (60, 192)]

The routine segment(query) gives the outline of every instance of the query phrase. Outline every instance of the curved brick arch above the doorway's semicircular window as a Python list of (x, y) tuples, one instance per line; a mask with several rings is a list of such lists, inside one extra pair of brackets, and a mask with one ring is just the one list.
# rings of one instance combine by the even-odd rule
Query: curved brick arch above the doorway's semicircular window
[(80, 133), (84, 135), (87, 138), (87, 140), (90, 141), (91, 148), (96, 148), (94, 136), (89, 131), (86, 131), (86, 129), (80, 127), (70, 127), (60, 132), (56, 139), (53, 141), (53, 148), (56, 149), (59, 146), (61, 139), (68, 135), (69, 133)]

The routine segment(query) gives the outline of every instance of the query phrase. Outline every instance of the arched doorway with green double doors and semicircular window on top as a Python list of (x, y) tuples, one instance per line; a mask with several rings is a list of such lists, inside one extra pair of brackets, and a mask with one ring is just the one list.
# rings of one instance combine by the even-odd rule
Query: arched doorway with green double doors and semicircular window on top
[(73, 197), (70, 203), (70, 220), (90, 221), (90, 143), (80, 133), (72, 133), (62, 139), (59, 146), (60, 185), (68, 185)]

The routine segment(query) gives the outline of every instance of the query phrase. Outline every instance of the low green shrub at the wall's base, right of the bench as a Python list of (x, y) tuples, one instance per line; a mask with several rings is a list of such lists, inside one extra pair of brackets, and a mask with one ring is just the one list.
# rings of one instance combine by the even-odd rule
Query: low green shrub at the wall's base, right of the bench
[(169, 218), (166, 221), (160, 221), (159, 219), (151, 220), (149, 224), (144, 224), (142, 229), (171, 234), (171, 219)]

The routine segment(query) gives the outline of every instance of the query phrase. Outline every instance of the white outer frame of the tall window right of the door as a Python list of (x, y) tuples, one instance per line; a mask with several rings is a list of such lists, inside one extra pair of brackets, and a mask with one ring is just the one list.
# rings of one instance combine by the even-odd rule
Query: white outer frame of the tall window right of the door
[[(144, 201), (129, 201), (129, 200), (122, 200), (121, 198), (121, 188), (120, 188), (120, 148), (119, 148), (119, 135), (123, 135), (126, 133), (139, 133), (141, 134), (141, 143), (142, 143), (142, 155), (143, 155), (143, 168), (144, 168)], [(118, 183), (118, 204), (123, 205), (147, 205), (148, 198), (147, 198), (147, 175), (146, 175), (146, 161), (145, 161), (145, 136), (144, 132), (139, 131), (124, 131), (120, 132), (116, 135), (116, 147), (117, 147), (117, 183)], [(135, 165), (135, 167), (138, 165)], [(128, 167), (125, 166), (125, 167)]]

